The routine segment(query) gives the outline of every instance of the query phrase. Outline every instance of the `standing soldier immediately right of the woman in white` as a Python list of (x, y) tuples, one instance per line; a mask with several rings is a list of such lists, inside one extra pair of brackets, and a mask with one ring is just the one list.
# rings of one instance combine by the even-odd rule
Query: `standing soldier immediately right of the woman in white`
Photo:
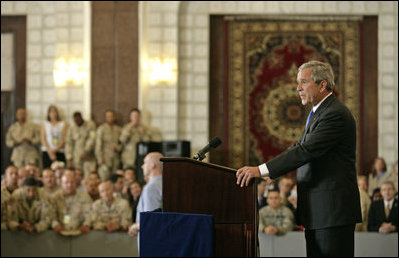
[(96, 169), (96, 127), (93, 122), (84, 121), (80, 112), (73, 114), (73, 120), (75, 124), (68, 128), (65, 145), (67, 166), (82, 169), (86, 178)]

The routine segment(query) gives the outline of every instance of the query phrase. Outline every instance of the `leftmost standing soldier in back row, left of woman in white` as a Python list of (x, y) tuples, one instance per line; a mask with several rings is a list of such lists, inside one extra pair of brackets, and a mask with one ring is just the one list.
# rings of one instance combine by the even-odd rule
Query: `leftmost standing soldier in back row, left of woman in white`
[(6, 135), (6, 145), (13, 148), (11, 161), (17, 167), (27, 164), (39, 165), (39, 152), (37, 146), (40, 142), (39, 127), (26, 121), (26, 110), (18, 108), (17, 122), (12, 124)]

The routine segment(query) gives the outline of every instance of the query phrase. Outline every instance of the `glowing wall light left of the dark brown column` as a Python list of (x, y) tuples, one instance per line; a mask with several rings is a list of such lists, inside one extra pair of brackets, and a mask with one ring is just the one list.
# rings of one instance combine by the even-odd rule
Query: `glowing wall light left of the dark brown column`
[(56, 87), (67, 85), (83, 85), (86, 69), (82, 59), (59, 58), (54, 65), (54, 83)]

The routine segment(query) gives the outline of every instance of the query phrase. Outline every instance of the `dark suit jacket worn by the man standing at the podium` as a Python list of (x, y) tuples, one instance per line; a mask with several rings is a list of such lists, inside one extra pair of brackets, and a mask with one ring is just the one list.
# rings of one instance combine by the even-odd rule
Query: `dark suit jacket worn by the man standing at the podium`
[(272, 179), (298, 168), (298, 225), (321, 229), (362, 221), (355, 162), (355, 120), (330, 95), (300, 140), (266, 165)]

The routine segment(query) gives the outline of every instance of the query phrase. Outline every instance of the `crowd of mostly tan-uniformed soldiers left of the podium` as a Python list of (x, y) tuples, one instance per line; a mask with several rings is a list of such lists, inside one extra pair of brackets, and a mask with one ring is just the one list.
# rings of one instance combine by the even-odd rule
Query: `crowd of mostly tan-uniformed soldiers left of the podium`
[(136, 222), (141, 192), (151, 178), (138, 181), (136, 144), (161, 140), (159, 133), (141, 124), (140, 110), (131, 110), (123, 128), (111, 110), (97, 129), (80, 112), (73, 114), (69, 126), (54, 105), (41, 126), (26, 118), (26, 110), (18, 109), (6, 135), (13, 165), (1, 180), (1, 229), (127, 231)]

